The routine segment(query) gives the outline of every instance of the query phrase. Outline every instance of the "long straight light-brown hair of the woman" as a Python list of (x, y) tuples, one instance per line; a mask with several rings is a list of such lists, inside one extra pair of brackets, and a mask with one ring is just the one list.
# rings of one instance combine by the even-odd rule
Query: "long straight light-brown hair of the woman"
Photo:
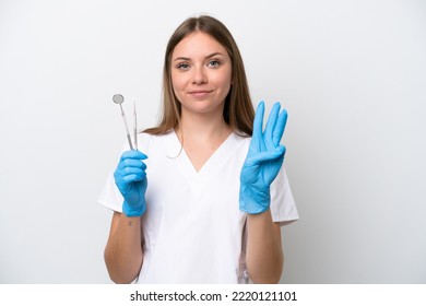
[(209, 34), (216, 39), (228, 52), (232, 60), (232, 80), (229, 93), (225, 98), (223, 111), (224, 120), (235, 132), (242, 136), (252, 134), (255, 109), (251, 104), (246, 71), (242, 58), (234, 40), (234, 37), (226, 26), (218, 20), (201, 15), (189, 17), (181, 23), (168, 40), (164, 69), (163, 69), (163, 113), (157, 127), (146, 129), (144, 132), (151, 134), (164, 134), (170, 129), (179, 127), (181, 106), (177, 99), (171, 84), (171, 54), (177, 44), (186, 36), (194, 32)]

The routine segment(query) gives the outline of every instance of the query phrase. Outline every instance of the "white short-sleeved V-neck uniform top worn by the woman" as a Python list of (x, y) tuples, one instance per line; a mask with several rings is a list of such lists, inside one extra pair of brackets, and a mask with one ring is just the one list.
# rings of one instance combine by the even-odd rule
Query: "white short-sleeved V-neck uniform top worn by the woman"
[[(232, 133), (197, 173), (174, 131), (139, 134), (149, 156), (144, 260), (137, 283), (245, 283), (239, 175), (250, 138)], [(99, 203), (121, 212), (113, 173)], [(284, 167), (271, 186), (271, 212), (282, 225), (298, 219)]]

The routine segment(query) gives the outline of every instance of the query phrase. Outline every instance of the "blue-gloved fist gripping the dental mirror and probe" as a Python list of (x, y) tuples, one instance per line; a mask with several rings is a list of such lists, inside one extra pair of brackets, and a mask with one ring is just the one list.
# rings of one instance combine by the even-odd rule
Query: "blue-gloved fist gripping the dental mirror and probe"
[(141, 216), (146, 210), (146, 165), (142, 162), (146, 158), (138, 150), (126, 151), (114, 173), (116, 185), (125, 198), (122, 212), (127, 216)]

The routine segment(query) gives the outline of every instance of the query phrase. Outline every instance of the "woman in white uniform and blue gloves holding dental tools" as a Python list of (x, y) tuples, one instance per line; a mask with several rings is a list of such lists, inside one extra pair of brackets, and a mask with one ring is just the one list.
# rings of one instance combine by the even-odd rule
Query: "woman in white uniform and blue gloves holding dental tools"
[[(281, 225), (297, 220), (282, 167), (286, 113), (264, 132), (237, 45), (211, 16), (173, 34), (163, 118), (123, 152), (99, 202), (113, 209), (105, 261), (116, 283), (277, 283)], [(255, 120), (255, 122), (253, 122)], [(251, 137), (252, 136), (252, 137)]]

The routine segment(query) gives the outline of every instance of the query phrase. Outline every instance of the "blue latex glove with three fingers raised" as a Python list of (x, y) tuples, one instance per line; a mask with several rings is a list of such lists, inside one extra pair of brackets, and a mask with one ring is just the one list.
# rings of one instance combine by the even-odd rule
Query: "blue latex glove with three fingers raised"
[(264, 103), (256, 110), (253, 134), (240, 174), (239, 209), (250, 214), (267, 211), (271, 202), (270, 186), (283, 165), (285, 146), (280, 144), (287, 122), (287, 111), (272, 107), (264, 132)]

